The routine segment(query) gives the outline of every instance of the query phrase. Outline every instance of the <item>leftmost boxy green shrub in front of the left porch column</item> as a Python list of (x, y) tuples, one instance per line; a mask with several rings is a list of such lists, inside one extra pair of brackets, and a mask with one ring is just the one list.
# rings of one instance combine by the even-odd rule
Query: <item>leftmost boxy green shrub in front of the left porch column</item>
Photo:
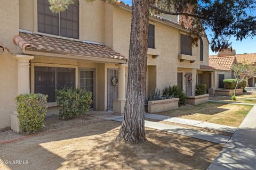
[(47, 95), (26, 94), (15, 99), (20, 130), (28, 134), (41, 130), (47, 112)]

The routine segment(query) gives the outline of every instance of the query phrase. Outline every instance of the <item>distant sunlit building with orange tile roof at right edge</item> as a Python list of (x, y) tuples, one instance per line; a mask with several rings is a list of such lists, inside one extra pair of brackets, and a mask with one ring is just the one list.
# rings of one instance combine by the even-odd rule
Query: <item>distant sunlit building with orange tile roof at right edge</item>
[[(256, 54), (236, 54), (235, 49), (222, 50), (218, 55), (209, 56), (209, 65), (215, 69), (215, 89), (223, 88), (223, 79), (234, 79), (231, 67), (235, 63), (256, 64)], [(256, 66), (256, 65), (255, 65)], [(246, 86), (254, 87), (256, 78), (247, 77)]]

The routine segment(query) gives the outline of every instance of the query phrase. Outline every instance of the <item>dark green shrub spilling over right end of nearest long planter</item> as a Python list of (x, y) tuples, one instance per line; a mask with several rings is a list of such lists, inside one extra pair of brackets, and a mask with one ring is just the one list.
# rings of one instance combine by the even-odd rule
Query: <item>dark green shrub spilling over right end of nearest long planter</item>
[(163, 91), (163, 95), (167, 95), (167, 96), (172, 96), (172, 97), (177, 97), (179, 98), (179, 106), (183, 105), (185, 103), (185, 99), (186, 99), (186, 95), (185, 92), (183, 92), (183, 90), (181, 90), (178, 86), (169, 86), (166, 87)]

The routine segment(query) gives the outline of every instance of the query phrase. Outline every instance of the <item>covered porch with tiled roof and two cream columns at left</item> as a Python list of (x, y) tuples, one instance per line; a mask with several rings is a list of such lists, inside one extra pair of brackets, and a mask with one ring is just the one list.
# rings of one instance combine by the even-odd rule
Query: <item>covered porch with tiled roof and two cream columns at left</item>
[[(20, 33), (13, 41), (23, 54), (18, 63), (18, 94), (48, 95), (47, 114), (58, 114), (55, 90), (82, 88), (93, 94), (91, 110), (124, 112), (127, 59), (101, 44)], [(17, 112), (11, 115), (18, 131)]]

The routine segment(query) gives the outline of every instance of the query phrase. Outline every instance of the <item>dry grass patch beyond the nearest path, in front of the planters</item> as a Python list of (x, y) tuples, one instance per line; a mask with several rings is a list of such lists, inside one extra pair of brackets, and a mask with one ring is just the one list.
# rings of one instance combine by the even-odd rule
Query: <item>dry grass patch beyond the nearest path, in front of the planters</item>
[(252, 107), (207, 102), (196, 106), (185, 105), (174, 111), (157, 114), (238, 127)]

